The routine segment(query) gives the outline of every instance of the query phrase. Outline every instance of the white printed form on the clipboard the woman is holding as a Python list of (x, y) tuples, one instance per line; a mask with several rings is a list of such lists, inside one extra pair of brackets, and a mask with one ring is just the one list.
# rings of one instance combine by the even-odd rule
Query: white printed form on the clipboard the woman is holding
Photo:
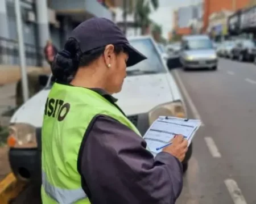
[(157, 149), (170, 143), (177, 134), (183, 135), (190, 145), (200, 125), (200, 120), (160, 116), (153, 122), (143, 138), (147, 142), (147, 149), (156, 156), (163, 150)]

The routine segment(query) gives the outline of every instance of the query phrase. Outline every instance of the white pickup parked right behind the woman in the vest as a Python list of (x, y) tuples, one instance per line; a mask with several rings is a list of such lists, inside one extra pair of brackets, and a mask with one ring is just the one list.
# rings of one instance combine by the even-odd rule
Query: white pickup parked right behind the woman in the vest
[[(118, 105), (127, 118), (142, 135), (159, 116), (187, 117), (186, 108), (174, 77), (169, 73), (160, 57), (157, 45), (150, 36), (129, 39), (131, 45), (148, 59), (127, 67), (127, 77), (122, 91), (115, 95)], [(38, 94), (24, 103), (11, 118), (9, 158), (11, 169), (16, 177), (32, 182), (41, 180), (41, 129), (44, 106), (54, 83), (52, 76), (41, 76), (47, 84)], [(191, 158), (192, 145), (183, 162), (184, 172)]]

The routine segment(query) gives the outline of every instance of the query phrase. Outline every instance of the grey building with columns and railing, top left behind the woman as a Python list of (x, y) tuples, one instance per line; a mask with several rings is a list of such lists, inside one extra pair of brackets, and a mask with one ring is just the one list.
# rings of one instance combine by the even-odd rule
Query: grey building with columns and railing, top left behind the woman
[[(51, 39), (57, 49), (62, 49), (69, 33), (82, 21), (93, 16), (113, 18), (105, 0), (20, 0), (23, 38), (27, 65), (42, 66), (43, 48)], [(18, 64), (18, 36), (14, 0), (0, 1), (0, 63)]]

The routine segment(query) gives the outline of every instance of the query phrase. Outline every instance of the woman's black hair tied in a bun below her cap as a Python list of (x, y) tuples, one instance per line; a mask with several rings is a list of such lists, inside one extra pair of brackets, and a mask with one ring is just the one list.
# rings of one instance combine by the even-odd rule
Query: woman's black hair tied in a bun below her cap
[[(104, 53), (105, 46), (82, 53), (79, 42), (69, 38), (64, 49), (58, 52), (53, 60), (51, 69), (57, 82), (68, 83), (81, 66), (87, 66)], [(124, 51), (123, 45), (114, 45), (114, 52), (119, 54)]]

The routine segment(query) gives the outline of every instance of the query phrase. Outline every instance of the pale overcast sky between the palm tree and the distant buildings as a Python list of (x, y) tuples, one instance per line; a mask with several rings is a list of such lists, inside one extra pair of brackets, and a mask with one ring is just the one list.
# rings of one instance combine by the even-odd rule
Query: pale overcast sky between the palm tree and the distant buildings
[(158, 0), (158, 10), (152, 12), (150, 18), (156, 23), (162, 25), (163, 37), (168, 38), (168, 32), (172, 29), (173, 11), (181, 6), (187, 6), (192, 3), (197, 3), (200, 0)]

